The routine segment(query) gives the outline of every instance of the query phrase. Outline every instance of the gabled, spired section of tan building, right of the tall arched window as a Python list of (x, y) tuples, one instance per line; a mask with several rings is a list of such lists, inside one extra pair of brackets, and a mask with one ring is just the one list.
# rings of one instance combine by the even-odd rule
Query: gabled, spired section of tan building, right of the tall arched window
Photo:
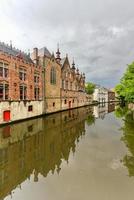
[(62, 109), (80, 107), (86, 104), (85, 74), (80, 74), (68, 56), (61, 60), (61, 105)]

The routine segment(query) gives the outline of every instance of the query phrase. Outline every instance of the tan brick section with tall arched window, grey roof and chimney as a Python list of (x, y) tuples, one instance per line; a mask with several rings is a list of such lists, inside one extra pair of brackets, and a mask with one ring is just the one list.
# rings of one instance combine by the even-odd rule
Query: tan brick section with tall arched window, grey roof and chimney
[(61, 65), (54, 54), (51, 54), (46, 47), (34, 48), (31, 55), (34, 63), (40, 64), (44, 70), (43, 75), (43, 96), (44, 113), (51, 113), (61, 110), (60, 86), (61, 86)]

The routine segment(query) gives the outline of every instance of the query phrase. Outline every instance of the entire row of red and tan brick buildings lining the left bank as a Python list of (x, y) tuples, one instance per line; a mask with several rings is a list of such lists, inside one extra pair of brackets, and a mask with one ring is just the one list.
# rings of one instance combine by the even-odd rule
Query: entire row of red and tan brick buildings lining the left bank
[(47, 48), (25, 54), (0, 43), (0, 124), (86, 105), (85, 74)]

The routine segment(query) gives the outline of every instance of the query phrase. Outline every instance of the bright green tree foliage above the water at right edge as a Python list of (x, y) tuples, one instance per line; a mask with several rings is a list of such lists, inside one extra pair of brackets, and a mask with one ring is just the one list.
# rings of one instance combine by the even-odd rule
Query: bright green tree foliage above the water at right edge
[(115, 90), (124, 100), (134, 102), (134, 62), (128, 65), (120, 84), (116, 86)]

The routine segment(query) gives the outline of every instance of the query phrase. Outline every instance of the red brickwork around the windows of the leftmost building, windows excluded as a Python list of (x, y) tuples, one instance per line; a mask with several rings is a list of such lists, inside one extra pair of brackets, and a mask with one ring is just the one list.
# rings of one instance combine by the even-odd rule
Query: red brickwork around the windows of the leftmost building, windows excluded
[[(20, 100), (20, 84), (27, 86), (27, 100), (34, 100), (34, 74), (39, 75), (38, 87), (40, 88), (39, 98), (42, 99), (42, 67), (32, 63), (27, 63), (23, 59), (10, 56), (0, 52), (0, 62), (8, 64), (8, 77), (0, 77), (0, 83), (6, 82), (9, 84), (9, 100)], [(19, 78), (19, 69), (26, 70), (26, 80), (21, 81)]]

